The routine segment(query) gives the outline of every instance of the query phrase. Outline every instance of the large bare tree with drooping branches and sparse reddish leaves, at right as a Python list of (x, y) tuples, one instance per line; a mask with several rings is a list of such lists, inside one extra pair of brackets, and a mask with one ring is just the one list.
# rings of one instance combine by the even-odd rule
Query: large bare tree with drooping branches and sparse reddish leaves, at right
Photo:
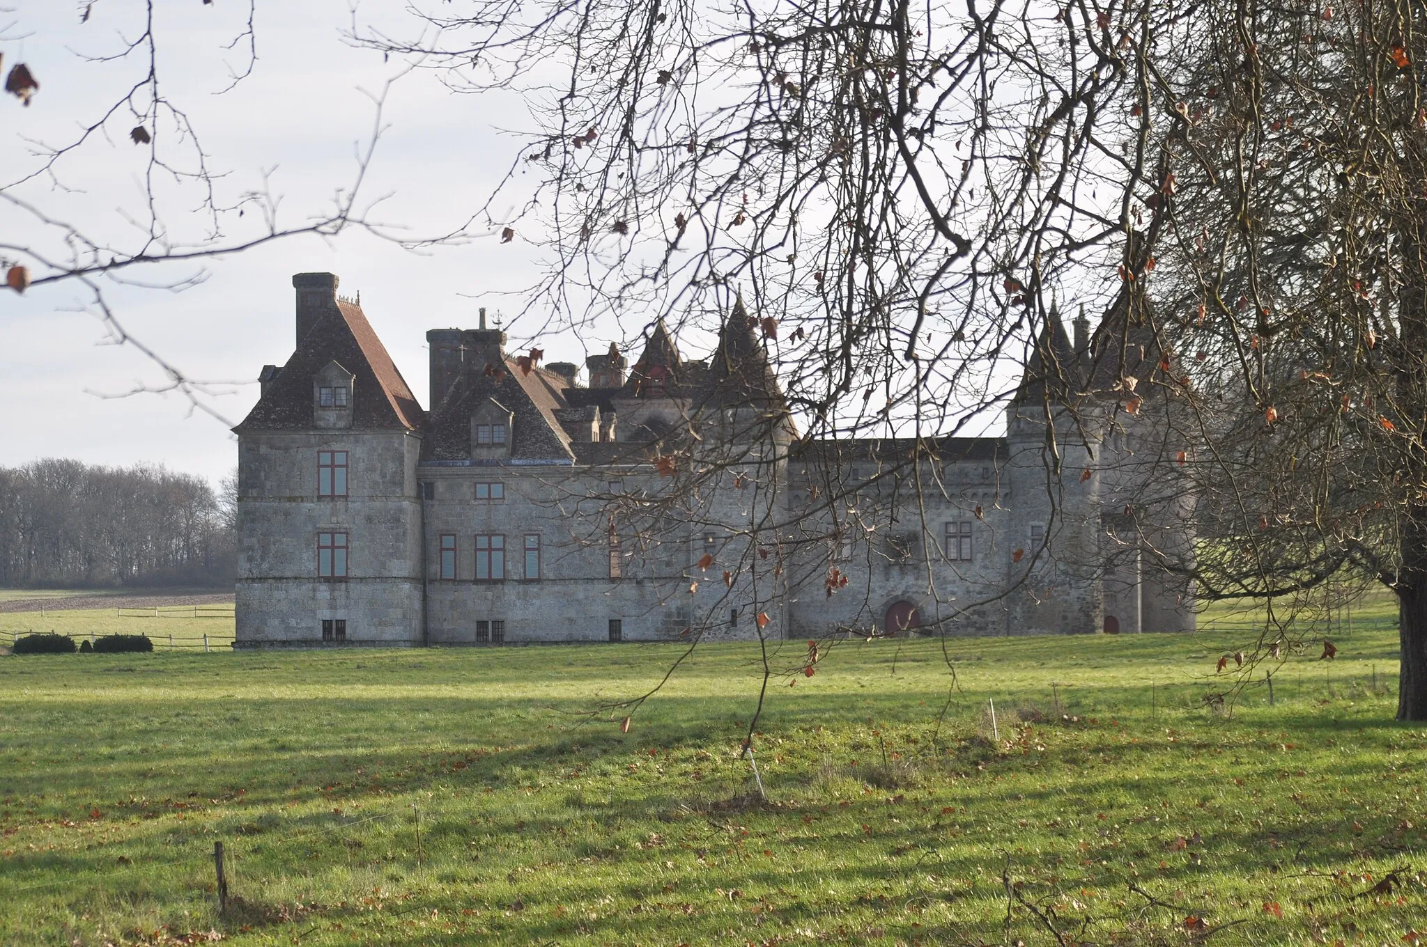
[[(1202, 600), (1270, 602), (1250, 667), (1317, 636), (1294, 622), (1306, 593), (1386, 582), (1398, 713), (1427, 716), (1420, 9), (492, 0), (420, 16), (438, 30), (354, 40), (534, 106), (472, 217), (547, 254), (528, 317), (712, 334), (742, 290), (786, 385), (761, 419), (768, 456), (902, 435), (878, 476), (912, 509), (942, 489), (935, 436), (1007, 404), (1013, 424), (1039, 414), (1055, 515), (1069, 522), (1082, 461), (1086, 479), (1117, 471), (1102, 492), (1123, 515), (1093, 523), (1112, 549)], [(1057, 295), (1100, 317), (1079, 352), (1057, 341)], [(1159, 434), (1130, 432), (1149, 411)], [(682, 478), (671, 498), (748, 459), (658, 444)], [(848, 528), (841, 468), (808, 469), (812, 496), (835, 499), (811, 503), (821, 525), (778, 523), (779, 543)], [(1164, 541), (1174, 518), (1206, 539)], [(1070, 549), (1017, 551), (1022, 578)]]

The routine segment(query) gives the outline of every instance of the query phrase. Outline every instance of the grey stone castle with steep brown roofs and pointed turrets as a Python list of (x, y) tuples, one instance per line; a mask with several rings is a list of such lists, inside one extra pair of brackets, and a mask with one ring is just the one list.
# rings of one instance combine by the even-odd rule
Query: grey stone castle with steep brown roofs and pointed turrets
[(1006, 436), (816, 441), (741, 304), (708, 359), (659, 324), (585, 384), (434, 329), (422, 409), (337, 284), (293, 278), (295, 351), (235, 428), (240, 647), (1194, 628), (1164, 412), (1047, 396), (1104, 325), (1052, 319)]

